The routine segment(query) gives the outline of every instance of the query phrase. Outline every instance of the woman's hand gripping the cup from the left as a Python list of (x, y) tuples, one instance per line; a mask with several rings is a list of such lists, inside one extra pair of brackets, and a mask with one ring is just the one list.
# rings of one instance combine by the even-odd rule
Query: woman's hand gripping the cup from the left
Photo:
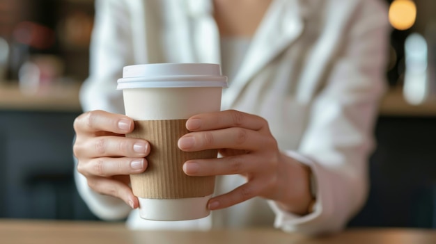
[(130, 117), (91, 111), (74, 122), (76, 140), (73, 147), (77, 171), (86, 177), (95, 192), (118, 197), (132, 209), (139, 206), (130, 188), (129, 174), (146, 170), (150, 146), (146, 140), (126, 138), (134, 122)]

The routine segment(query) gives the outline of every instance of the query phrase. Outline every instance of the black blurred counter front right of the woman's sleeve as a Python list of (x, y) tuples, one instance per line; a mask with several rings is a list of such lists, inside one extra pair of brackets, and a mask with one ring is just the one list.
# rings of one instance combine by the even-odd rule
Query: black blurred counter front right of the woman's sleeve
[(381, 116), (371, 190), (350, 226), (436, 228), (436, 117)]

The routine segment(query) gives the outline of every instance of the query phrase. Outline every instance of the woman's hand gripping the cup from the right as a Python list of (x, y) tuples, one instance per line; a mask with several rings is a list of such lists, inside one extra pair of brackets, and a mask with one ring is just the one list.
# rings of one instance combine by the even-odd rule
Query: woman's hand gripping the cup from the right
[(241, 174), (247, 183), (213, 197), (209, 209), (223, 209), (252, 197), (276, 201), (292, 213), (306, 213), (311, 202), (309, 169), (279, 151), (262, 117), (239, 111), (205, 113), (190, 117), (178, 147), (184, 151), (219, 149), (222, 158), (187, 161), (190, 176)]

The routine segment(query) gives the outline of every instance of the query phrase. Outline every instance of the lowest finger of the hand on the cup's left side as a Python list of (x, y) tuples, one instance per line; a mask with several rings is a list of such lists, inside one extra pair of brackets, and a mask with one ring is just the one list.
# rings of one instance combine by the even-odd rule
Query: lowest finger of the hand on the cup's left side
[(132, 209), (139, 206), (137, 197), (132, 193), (132, 188), (121, 181), (104, 177), (88, 178), (88, 186), (97, 193), (120, 198)]

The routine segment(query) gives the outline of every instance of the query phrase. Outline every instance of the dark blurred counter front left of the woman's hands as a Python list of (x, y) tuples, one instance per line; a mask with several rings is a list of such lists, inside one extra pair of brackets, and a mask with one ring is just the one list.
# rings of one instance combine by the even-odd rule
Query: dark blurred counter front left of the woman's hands
[(77, 115), (0, 111), (0, 218), (96, 219), (72, 174)]

